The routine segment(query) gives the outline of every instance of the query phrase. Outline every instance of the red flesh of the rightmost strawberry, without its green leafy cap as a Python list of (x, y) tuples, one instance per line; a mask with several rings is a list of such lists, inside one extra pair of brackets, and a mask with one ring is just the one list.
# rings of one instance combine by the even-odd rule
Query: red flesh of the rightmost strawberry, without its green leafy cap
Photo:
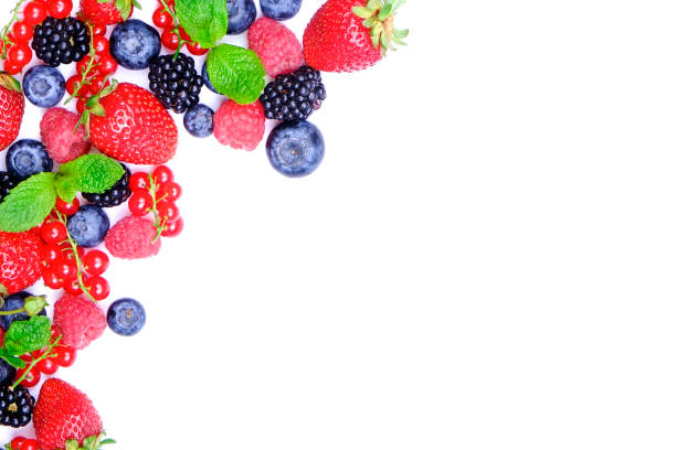
[(321, 72), (355, 72), (382, 58), (369, 29), (352, 12), (366, 0), (329, 0), (315, 13), (303, 34), (305, 62)]

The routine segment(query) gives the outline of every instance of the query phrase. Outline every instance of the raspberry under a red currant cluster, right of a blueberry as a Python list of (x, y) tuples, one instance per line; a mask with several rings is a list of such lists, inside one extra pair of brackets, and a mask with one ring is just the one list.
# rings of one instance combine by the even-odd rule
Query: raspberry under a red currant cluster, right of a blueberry
[(116, 223), (106, 235), (106, 248), (110, 255), (123, 259), (138, 259), (159, 253), (161, 240), (155, 243), (157, 229), (144, 217), (127, 216)]

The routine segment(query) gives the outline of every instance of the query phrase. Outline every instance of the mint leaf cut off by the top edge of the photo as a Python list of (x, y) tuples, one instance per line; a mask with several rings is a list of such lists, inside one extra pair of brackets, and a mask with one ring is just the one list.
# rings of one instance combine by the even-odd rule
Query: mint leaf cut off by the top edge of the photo
[(228, 31), (225, 0), (176, 0), (176, 15), (188, 35), (202, 49), (212, 49)]

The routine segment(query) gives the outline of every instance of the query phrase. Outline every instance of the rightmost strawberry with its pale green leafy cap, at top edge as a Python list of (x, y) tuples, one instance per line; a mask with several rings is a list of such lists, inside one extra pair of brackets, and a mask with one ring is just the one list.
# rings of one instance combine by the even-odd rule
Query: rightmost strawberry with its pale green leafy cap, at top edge
[(305, 62), (317, 71), (355, 72), (379, 62), (404, 44), (408, 30), (394, 29), (394, 14), (405, 0), (328, 0), (303, 35)]

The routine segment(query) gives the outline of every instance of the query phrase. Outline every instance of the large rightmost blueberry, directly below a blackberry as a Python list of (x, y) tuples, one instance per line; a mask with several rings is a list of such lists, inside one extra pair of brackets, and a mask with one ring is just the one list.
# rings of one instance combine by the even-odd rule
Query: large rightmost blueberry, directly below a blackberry
[(267, 137), (267, 158), (286, 176), (309, 175), (324, 159), (324, 137), (308, 121), (279, 124)]

